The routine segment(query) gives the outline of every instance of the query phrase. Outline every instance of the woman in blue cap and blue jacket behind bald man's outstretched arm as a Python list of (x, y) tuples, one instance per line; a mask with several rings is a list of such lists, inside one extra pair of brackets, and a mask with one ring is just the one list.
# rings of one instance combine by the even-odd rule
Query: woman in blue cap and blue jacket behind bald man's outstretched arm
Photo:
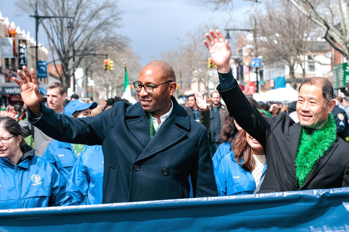
[[(97, 107), (97, 102), (85, 103), (80, 99), (70, 101), (65, 107), (64, 114), (74, 117), (91, 117), (91, 109)], [(45, 150), (43, 155), (57, 168), (61, 178), (68, 183), (68, 175), (72, 171), (73, 166), (86, 146), (83, 144), (70, 144), (53, 140)]]

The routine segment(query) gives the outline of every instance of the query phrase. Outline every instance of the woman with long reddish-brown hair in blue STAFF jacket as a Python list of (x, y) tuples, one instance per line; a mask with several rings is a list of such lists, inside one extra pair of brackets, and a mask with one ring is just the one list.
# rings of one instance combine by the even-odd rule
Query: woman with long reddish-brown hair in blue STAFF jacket
[[(259, 110), (264, 115), (267, 113)], [(232, 149), (223, 156), (214, 170), (218, 196), (254, 193), (263, 181), (266, 169), (262, 145), (245, 130), (240, 130)]]

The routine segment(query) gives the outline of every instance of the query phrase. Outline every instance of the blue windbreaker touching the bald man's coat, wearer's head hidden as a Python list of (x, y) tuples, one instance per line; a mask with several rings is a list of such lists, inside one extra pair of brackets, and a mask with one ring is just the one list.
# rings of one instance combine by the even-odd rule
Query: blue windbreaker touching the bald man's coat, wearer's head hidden
[(81, 152), (68, 176), (68, 191), (75, 204), (102, 204), (103, 163), (102, 146), (86, 146)]

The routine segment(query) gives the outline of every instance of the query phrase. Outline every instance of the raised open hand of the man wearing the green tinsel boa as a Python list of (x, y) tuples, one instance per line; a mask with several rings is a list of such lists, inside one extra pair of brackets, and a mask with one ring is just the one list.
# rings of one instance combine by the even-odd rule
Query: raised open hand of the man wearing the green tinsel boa
[(210, 52), (212, 61), (216, 64), (218, 72), (227, 73), (230, 71), (230, 45), (228, 44), (228, 41), (224, 41), (220, 31), (216, 30), (217, 35), (213, 30), (210, 30), (209, 33), (210, 34), (205, 34), (208, 42), (204, 40), (203, 43)]

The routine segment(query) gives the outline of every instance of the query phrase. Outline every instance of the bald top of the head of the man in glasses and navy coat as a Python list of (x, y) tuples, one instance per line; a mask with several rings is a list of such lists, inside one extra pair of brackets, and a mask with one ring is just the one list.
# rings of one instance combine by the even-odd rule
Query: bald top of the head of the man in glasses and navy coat
[(144, 66), (141, 73), (148, 74), (149, 72), (151, 72), (151, 70), (154, 70), (154, 67), (156, 67), (157, 75), (159, 75), (162, 80), (171, 80), (173, 82), (176, 82), (176, 75), (174, 74), (173, 68), (170, 64), (162, 60), (150, 62), (149, 64)]

